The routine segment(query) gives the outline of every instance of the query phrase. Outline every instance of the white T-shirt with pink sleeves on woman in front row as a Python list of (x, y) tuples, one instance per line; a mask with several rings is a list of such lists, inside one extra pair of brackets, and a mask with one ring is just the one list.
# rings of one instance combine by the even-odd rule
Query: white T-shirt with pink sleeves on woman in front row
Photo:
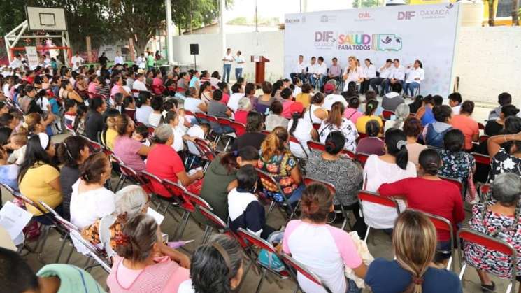
[[(352, 269), (362, 264), (355, 243), (347, 232), (328, 224), (311, 224), (302, 220), (287, 223), (283, 251), (292, 255), (317, 274), (332, 293), (344, 293), (347, 283), (344, 266)], [(297, 276), (304, 292), (323, 292), (322, 287), (302, 276)]]

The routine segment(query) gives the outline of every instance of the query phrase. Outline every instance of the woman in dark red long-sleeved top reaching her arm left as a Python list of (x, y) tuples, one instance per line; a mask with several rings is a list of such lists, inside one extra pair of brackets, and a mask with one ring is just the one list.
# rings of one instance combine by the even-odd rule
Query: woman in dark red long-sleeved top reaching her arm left
[[(381, 196), (398, 196), (406, 199), (407, 207), (439, 215), (452, 223), (454, 231), (457, 224), (465, 220), (462, 194), (457, 185), (438, 176), (442, 162), (436, 150), (426, 149), (420, 152), (420, 167), (417, 178), (404, 178), (394, 183), (383, 183), (378, 188)], [(438, 231), (438, 249), (450, 251), (450, 233)], [(450, 255), (439, 254), (436, 262), (448, 259)]]

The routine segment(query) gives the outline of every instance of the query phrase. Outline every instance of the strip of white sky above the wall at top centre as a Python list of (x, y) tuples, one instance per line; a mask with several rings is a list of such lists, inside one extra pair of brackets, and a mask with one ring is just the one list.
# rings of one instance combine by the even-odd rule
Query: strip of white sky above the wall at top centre
[[(285, 13), (301, 12), (306, 0), (257, 0), (259, 18), (279, 17), (283, 22)], [(307, 0), (308, 12), (321, 10), (341, 10), (352, 8), (352, 0)], [(304, 10), (304, 7), (302, 7)], [(255, 15), (255, 0), (234, 0), (234, 6), (224, 13), (224, 22), (236, 17), (251, 20)]]

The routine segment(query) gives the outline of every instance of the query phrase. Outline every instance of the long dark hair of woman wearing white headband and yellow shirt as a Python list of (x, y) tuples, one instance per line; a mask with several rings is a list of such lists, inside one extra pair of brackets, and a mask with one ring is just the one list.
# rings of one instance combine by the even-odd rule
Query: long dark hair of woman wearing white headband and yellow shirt
[(59, 167), (54, 162), (52, 162), (52, 158), (45, 151), (48, 150), (50, 144), (51, 141), (49, 138), (49, 143), (44, 149), (41, 147), (40, 136), (35, 135), (29, 138), (25, 148), (24, 162), (22, 162), (20, 165), (20, 170), (18, 171), (18, 182), (21, 183), (25, 173), (27, 173), (29, 168), (32, 168), (36, 164), (48, 164), (59, 172)]

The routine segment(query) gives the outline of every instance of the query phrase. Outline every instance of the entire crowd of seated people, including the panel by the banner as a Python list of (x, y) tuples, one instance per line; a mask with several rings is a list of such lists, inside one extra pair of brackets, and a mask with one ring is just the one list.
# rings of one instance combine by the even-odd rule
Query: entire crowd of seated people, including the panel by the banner
[[(110, 292), (231, 292), (246, 273), (241, 231), (266, 241), (282, 233), (278, 256), (290, 255), (331, 292), (361, 292), (364, 284), (373, 292), (462, 292), (455, 273), (441, 269), (450, 234), (426, 215), (445, 218), (455, 231), (465, 225), (465, 192), (478, 173), (471, 152), (479, 150), (490, 156), (483, 183), (492, 192), (473, 206), (470, 227), (521, 247), (521, 118), (509, 94), (499, 95), (486, 123), (490, 137), (480, 137), (475, 105), (461, 94), (448, 97), (450, 106), (431, 95), (406, 103), (424, 78), (419, 60), (408, 70), (389, 60), (377, 71), (371, 60), (359, 66), (349, 57), (345, 70), (334, 60), (329, 72), (323, 58), (302, 62), (292, 79), (258, 89), (243, 78), (229, 85), (218, 72), (178, 67), (1, 71), (0, 88), (9, 94), (0, 94), (0, 183), (36, 203), (22, 206), (37, 227), (55, 224), (55, 212), (106, 252)], [(39, 92), (44, 84), (52, 95)], [(71, 133), (55, 138), (62, 127)], [(123, 176), (112, 190), (108, 182), (121, 166), (141, 179)], [(206, 238), (191, 257), (170, 248), (147, 211), (155, 196), (172, 203), (175, 195), (147, 173), (204, 199), (229, 234)], [(397, 200), (401, 213), (359, 201), (360, 190)], [(38, 208), (40, 201), (53, 211)], [(271, 205), (280, 207), (284, 222), (276, 227), (283, 230), (268, 224)], [(367, 262), (361, 240), (336, 227), (346, 220), (341, 211), (355, 216), (348, 226), (359, 238), (368, 229), (391, 236), (395, 259)], [(190, 215), (210, 224), (199, 206)], [(495, 286), (487, 273), (508, 276), (504, 255), (471, 244), (463, 250), (484, 289)], [(99, 287), (85, 271), (69, 276), (74, 266), (52, 264), (35, 275), (15, 252), (0, 254), (9, 259), (0, 262), (0, 280), (12, 292), (50, 282), (60, 290), (78, 286), (66, 278)], [(304, 291), (320, 289), (304, 274), (295, 279)]]

